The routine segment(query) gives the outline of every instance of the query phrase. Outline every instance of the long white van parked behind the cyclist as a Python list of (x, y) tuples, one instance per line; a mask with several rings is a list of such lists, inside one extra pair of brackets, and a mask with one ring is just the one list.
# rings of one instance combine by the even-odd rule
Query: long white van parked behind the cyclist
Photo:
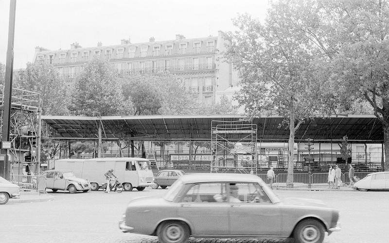
[(92, 191), (106, 184), (104, 174), (109, 169), (114, 170), (125, 191), (133, 188), (143, 191), (154, 179), (149, 160), (142, 158), (63, 159), (55, 161), (54, 166), (56, 170), (70, 170), (76, 177), (89, 180)]

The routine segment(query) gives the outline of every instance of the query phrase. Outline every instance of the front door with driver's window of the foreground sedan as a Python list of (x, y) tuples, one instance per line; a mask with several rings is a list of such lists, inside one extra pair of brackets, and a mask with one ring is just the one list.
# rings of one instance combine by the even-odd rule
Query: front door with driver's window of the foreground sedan
[(279, 235), (281, 210), (262, 187), (257, 182), (236, 183), (235, 186), (240, 202), (230, 203), (230, 234)]

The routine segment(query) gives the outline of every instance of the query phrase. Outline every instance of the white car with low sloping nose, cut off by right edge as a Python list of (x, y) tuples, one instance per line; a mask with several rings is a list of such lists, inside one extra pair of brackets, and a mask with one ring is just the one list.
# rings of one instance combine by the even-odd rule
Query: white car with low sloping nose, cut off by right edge
[(375, 172), (354, 183), (355, 190), (389, 190), (389, 172)]

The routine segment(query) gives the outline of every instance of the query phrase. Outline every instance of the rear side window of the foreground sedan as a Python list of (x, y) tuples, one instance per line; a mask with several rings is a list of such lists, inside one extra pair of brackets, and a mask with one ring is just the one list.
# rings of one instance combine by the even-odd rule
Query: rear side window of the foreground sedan
[(225, 183), (198, 183), (193, 184), (188, 192), (181, 198), (182, 202), (192, 203), (218, 203), (215, 195), (225, 195)]

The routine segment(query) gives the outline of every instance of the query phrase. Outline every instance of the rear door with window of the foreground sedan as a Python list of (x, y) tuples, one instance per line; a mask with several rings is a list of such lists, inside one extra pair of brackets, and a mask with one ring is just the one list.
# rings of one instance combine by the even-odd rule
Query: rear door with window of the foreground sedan
[(189, 222), (193, 235), (229, 234), (230, 204), (213, 197), (225, 192), (225, 183), (197, 183), (181, 197), (178, 215)]

